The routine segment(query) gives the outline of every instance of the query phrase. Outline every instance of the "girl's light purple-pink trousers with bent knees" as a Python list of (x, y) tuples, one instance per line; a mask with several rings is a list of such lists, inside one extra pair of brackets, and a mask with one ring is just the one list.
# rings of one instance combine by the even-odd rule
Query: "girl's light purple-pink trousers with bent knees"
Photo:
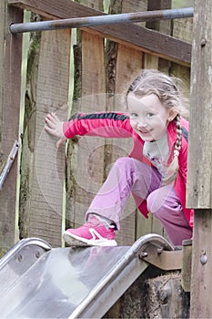
[(128, 157), (116, 160), (86, 212), (86, 220), (89, 214), (96, 213), (114, 222), (119, 230), (131, 191), (140, 201), (146, 200), (148, 211), (161, 221), (174, 245), (191, 238), (192, 230), (173, 185), (161, 186), (161, 175), (155, 168)]

